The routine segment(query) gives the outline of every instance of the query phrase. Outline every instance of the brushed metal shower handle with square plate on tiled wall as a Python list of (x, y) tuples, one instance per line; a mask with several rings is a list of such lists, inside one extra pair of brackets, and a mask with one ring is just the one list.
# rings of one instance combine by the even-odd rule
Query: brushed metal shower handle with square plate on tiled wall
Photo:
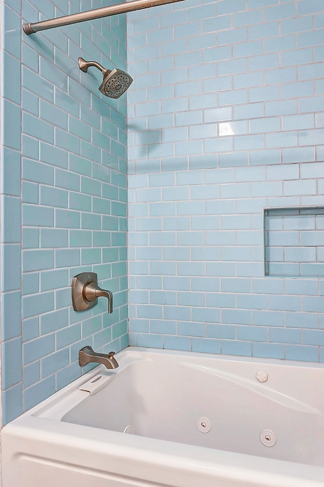
[(108, 313), (112, 313), (112, 292), (98, 286), (95, 272), (82, 272), (72, 279), (72, 305), (74, 311), (93, 308), (101, 296), (108, 299)]

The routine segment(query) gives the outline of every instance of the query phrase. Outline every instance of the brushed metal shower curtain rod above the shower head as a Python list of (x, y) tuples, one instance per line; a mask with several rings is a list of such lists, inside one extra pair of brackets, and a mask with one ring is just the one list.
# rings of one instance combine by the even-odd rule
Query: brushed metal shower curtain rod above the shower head
[(65, 15), (64, 17), (58, 17), (57, 19), (34, 23), (28, 22), (23, 24), (22, 28), (25, 34), (30, 35), (39, 32), (39, 30), (53, 29), (54, 27), (62, 27), (63, 25), (76, 24), (78, 22), (85, 22), (86, 20), (101, 19), (103, 17), (110, 17), (111, 15), (125, 14), (126, 12), (133, 12), (134, 10), (148, 9), (150, 7), (173, 4), (175, 2), (183, 2), (183, 0), (132, 0), (132, 2), (111, 5), (110, 7), (103, 7), (96, 10), (88, 10), (87, 12), (80, 12), (78, 14)]

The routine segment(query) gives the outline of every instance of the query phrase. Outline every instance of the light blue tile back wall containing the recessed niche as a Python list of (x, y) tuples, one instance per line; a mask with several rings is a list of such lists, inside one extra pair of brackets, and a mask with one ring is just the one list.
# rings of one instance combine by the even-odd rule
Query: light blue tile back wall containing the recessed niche
[[(305, 229), (281, 215), (324, 205), (323, 12), (192, 0), (128, 15), (133, 346), (323, 360), (321, 215)], [(276, 276), (264, 209), (281, 211)]]

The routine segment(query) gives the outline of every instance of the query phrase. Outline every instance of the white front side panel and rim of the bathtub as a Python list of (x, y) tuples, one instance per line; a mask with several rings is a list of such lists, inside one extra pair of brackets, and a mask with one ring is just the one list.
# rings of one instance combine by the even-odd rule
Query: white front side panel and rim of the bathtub
[(4, 428), (3, 487), (324, 486), (321, 467), (31, 419)]

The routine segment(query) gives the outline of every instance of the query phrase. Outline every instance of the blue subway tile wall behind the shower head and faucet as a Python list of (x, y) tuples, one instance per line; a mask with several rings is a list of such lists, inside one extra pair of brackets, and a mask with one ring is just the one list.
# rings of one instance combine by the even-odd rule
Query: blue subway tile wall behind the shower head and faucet
[[(3, 6), (4, 423), (78, 377), (79, 348), (128, 345), (126, 96), (100, 95), (101, 73), (77, 66), (82, 56), (126, 70), (126, 16), (31, 36), (21, 29), (105, 5)], [(72, 310), (71, 280), (83, 271), (113, 291), (109, 318), (106, 301)]]

